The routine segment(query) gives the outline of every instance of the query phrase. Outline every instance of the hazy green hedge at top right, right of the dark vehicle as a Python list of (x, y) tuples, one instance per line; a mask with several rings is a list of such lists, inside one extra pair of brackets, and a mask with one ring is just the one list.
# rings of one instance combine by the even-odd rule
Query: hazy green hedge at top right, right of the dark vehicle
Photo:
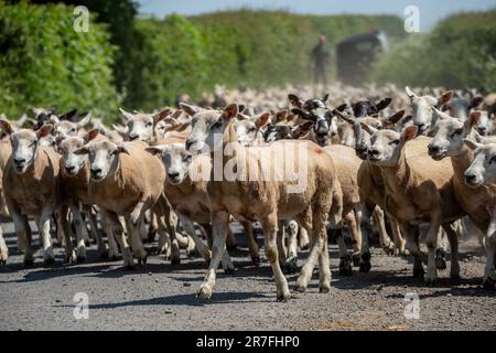
[(373, 79), (496, 90), (496, 10), (455, 14), (429, 34), (410, 35), (380, 58)]

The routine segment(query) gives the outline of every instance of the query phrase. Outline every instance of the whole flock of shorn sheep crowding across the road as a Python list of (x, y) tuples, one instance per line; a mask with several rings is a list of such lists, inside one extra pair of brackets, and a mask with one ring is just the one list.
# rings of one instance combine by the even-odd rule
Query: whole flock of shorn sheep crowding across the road
[[(291, 297), (283, 270), (298, 270), (306, 248), (296, 290), (306, 289), (316, 265), (320, 291), (330, 290), (327, 231), (341, 275), (370, 270), (375, 229), (387, 254), (413, 257), (413, 276), (427, 284), (446, 268), (444, 238), (457, 279), (459, 239), (477, 235), (486, 250), (483, 285), (494, 288), (496, 95), (333, 86), (315, 98), (311, 87), (292, 86), (187, 99), (150, 114), (121, 109), (122, 124), (112, 128), (77, 110), (32, 107), (32, 117), (0, 119), (0, 205), (25, 266), (35, 254), (29, 217), (45, 264), (54, 263), (52, 231), (67, 264), (85, 260), (93, 239), (101, 257), (120, 255), (125, 268), (145, 263), (143, 242), (158, 236), (158, 253), (172, 264), (181, 248), (205, 259), (197, 296), (211, 298), (219, 265), (234, 271), (226, 248), (238, 221), (256, 265), (259, 222), (278, 300)], [(285, 173), (289, 164), (296, 178)], [(0, 264), (8, 255), (0, 227)]]

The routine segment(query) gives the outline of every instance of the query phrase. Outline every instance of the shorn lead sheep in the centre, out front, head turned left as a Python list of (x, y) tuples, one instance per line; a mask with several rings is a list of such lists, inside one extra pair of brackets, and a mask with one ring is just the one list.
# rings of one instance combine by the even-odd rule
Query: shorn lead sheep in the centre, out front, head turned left
[[(183, 106), (182, 108), (185, 109)], [(321, 268), (320, 291), (328, 292), (331, 271), (327, 242), (325, 240), (325, 223), (331, 208), (336, 208), (333, 201), (337, 199), (341, 189), (332, 159), (320, 147), (308, 141), (276, 141), (262, 147), (241, 147), (233, 124), (233, 119), (239, 113), (236, 104), (228, 105), (220, 111), (202, 110), (200, 107), (192, 110), (193, 126), (186, 141), (186, 149), (193, 153), (198, 153), (204, 148), (209, 148), (211, 158), (214, 158), (214, 179), (209, 180), (207, 184), (212, 203), (211, 218), (214, 244), (211, 265), (197, 296), (201, 298), (212, 297), (216, 269), (225, 250), (229, 214), (233, 214), (236, 218), (261, 222), (265, 235), (265, 252), (274, 275), (278, 301), (290, 299), (288, 281), (281, 271), (278, 259), (278, 220), (294, 217), (303, 227), (312, 229), (312, 248), (299, 276), (296, 287), (300, 291), (306, 289), (315, 260), (319, 259)], [(231, 159), (224, 153), (226, 148), (231, 149)], [(268, 157), (271, 154), (273, 157), (277, 151), (283, 151), (289, 158), (295, 158), (294, 148), (299, 152), (306, 153), (308, 157), (296, 160), (296, 162), (300, 162), (298, 164), (299, 172), (306, 172), (300, 179), (300, 182), (306, 183), (305, 188), (288, 181), (288, 176), (281, 178), (283, 175), (280, 174), (272, 175), (272, 178), (262, 178), (269, 176), (265, 174), (268, 169), (263, 165), (270, 167), (276, 173), (283, 171), (283, 158), (279, 156), (277, 159)], [(269, 160), (270, 163), (268, 163)], [(294, 162), (294, 159), (292, 162)], [(220, 176), (217, 175), (218, 172), (225, 171), (225, 168), (228, 169), (229, 165), (240, 168), (237, 168), (236, 174), (246, 172), (246, 178), (239, 178), (241, 180), (238, 180), (236, 175), (227, 173), (227, 175), (223, 175), (222, 180), (218, 180), (217, 178)], [(281, 178), (282, 181), (272, 180), (276, 176)], [(341, 214), (341, 211), (337, 210), (334, 214)]]

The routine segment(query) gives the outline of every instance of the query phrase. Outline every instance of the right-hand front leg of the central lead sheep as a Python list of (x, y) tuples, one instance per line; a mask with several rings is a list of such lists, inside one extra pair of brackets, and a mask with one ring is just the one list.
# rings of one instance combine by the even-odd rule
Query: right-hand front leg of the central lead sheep
[(278, 252), (278, 217), (277, 214), (271, 214), (261, 222), (263, 228), (265, 253), (267, 260), (272, 267), (273, 278), (276, 281), (276, 292), (278, 301), (288, 301), (291, 297), (288, 287), (288, 280), (282, 274), (279, 265)]

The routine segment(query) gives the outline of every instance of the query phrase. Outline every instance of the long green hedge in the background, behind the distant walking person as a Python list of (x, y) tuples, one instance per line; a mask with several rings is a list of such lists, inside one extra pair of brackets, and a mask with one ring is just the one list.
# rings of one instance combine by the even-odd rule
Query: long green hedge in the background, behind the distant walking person
[(308, 83), (310, 52), (319, 34), (330, 47), (345, 36), (382, 28), (405, 35), (392, 15), (298, 15), (238, 10), (164, 20), (138, 19), (132, 79), (127, 108), (152, 109), (173, 104), (179, 94), (193, 98), (215, 84), (250, 87)]

